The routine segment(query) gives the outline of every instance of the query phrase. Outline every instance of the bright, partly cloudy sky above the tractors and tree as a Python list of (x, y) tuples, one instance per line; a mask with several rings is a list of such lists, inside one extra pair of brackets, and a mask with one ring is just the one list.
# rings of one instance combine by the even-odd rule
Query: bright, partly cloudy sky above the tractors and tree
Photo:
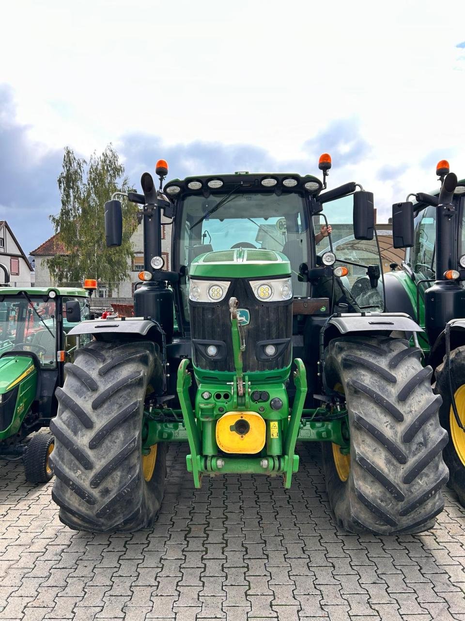
[(236, 170), (319, 175), (392, 202), (465, 177), (465, 2), (23, 0), (2, 6), (0, 219), (53, 234), (63, 148), (108, 143), (139, 188)]

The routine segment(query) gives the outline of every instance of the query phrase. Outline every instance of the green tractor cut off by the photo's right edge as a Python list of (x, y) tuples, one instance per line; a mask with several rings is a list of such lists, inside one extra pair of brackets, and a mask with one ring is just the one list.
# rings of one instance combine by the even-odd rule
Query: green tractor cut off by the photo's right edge
[(446, 160), (436, 174), (440, 191), (409, 194), (392, 206), (394, 247), (407, 250), (402, 270), (393, 264), (386, 274), (387, 307), (416, 317), (425, 330), (416, 351), (443, 399), (440, 422), (449, 436), (438, 448), (465, 506), (465, 179), (449, 173)]

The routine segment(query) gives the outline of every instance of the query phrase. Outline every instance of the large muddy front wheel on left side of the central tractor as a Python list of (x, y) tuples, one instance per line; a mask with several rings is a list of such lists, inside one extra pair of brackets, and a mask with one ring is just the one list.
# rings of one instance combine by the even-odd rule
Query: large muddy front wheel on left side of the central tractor
[(152, 342), (92, 342), (65, 366), (51, 420), (60, 520), (75, 530), (133, 531), (150, 526), (160, 508), (166, 445), (142, 452), (144, 397), (161, 383)]

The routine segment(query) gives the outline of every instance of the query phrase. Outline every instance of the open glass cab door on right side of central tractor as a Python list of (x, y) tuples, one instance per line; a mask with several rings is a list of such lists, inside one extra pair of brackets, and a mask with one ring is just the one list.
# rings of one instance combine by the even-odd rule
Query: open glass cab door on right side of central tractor
[[(322, 227), (332, 227), (331, 240), (336, 255), (335, 267), (347, 267), (347, 276), (335, 279), (335, 303), (348, 304), (349, 311), (383, 311), (383, 266), (379, 259), (376, 237), (373, 240), (356, 240), (353, 236), (353, 197), (345, 196), (324, 205), (324, 212), (314, 215), (317, 256), (330, 250), (328, 237), (318, 238)], [(326, 222), (327, 220), (327, 222)], [(384, 236), (386, 237), (386, 236)], [(370, 268), (370, 270), (368, 269)], [(379, 273), (379, 279), (370, 281), (369, 273)], [(315, 297), (331, 297), (332, 279), (320, 279), (314, 286)]]

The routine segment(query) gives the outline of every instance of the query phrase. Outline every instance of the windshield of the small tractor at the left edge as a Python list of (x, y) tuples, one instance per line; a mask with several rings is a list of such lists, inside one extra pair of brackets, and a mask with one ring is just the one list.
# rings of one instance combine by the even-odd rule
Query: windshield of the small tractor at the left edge
[(0, 302), (0, 353), (32, 351), (42, 368), (56, 366), (56, 303), (5, 296)]

